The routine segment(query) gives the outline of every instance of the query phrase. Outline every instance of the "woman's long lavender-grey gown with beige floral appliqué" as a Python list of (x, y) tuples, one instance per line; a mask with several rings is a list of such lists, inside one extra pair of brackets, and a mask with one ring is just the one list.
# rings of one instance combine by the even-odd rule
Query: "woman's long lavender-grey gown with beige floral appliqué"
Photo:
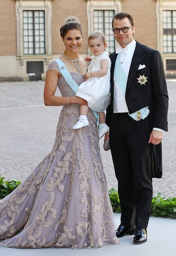
[[(47, 69), (59, 71), (53, 61)], [(80, 85), (83, 75), (70, 73)], [(62, 75), (63, 97), (74, 96)], [(79, 105), (63, 106), (51, 152), (0, 201), (0, 245), (17, 248), (97, 248), (118, 244), (100, 156), (96, 119), (72, 130)]]

